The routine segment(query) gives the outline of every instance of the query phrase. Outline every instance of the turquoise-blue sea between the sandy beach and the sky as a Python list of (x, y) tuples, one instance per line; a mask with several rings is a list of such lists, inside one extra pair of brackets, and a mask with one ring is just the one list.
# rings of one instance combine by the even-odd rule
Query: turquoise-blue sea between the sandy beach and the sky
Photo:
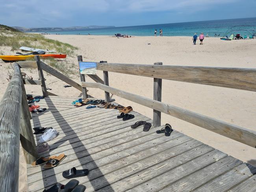
[[(115, 35), (117, 33), (128, 34), (134, 36), (153, 36), (154, 30), (163, 30), (163, 36), (193, 36), (194, 33), (203, 32), (204, 35), (208, 33), (210, 37), (214, 37), (215, 33), (223, 37), (226, 35), (231, 27), (235, 27), (228, 32), (240, 33), (244, 35), (256, 34), (256, 18), (241, 18), (241, 19), (226, 19), (226, 20), (211, 20), (211, 21), (198, 21), (198, 22), (184, 22), (184, 23), (170, 23), (170, 24), (156, 24), (156, 25), (143, 25), (143, 26), (128, 26), (128, 27), (115, 27), (115, 28), (101, 28), (101, 29), (88, 29), (82, 31), (54, 31), (48, 32), (51, 34), (59, 33), (64, 35)], [(217, 36), (218, 37), (218, 36)]]

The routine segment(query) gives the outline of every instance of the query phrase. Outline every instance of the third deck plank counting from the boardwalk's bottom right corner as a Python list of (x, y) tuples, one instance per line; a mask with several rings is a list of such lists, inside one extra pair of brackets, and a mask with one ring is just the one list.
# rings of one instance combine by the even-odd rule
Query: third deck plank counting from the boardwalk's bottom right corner
[(176, 182), (171, 182), (162, 190), (161, 192), (185, 192), (185, 191), (192, 191), (195, 188), (203, 185), (204, 183), (211, 181), (215, 177), (222, 175), (223, 173), (231, 170), (235, 166), (242, 164), (243, 162), (235, 159), (232, 156), (225, 157), (220, 161), (217, 161), (187, 177), (184, 177)]

